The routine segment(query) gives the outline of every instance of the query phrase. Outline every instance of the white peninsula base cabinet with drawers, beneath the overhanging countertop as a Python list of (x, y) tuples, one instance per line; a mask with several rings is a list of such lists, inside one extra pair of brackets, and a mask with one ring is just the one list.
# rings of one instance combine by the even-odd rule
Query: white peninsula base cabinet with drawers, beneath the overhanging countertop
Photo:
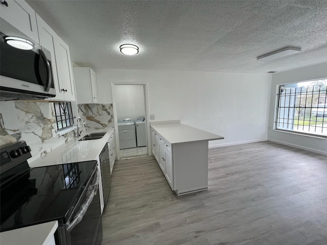
[(152, 127), (151, 133), (152, 153), (171, 189), (177, 195), (206, 190), (208, 188), (208, 141), (171, 144), (164, 135), (159, 134)]

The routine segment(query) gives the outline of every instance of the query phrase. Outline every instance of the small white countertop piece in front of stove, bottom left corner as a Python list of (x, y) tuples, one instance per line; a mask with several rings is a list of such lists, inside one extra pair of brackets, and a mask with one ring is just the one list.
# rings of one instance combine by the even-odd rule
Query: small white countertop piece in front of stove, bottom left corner
[(46, 245), (58, 228), (58, 221), (28, 226), (0, 233), (1, 245)]

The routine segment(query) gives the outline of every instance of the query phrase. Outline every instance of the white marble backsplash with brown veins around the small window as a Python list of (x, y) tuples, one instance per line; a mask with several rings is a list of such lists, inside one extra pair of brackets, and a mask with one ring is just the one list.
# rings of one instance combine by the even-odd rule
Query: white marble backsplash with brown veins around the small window
[[(74, 115), (85, 120), (88, 132), (113, 127), (112, 104), (79, 104), (72, 102)], [(76, 125), (76, 119), (74, 119)], [(25, 140), (34, 161), (75, 136), (71, 131), (52, 137), (56, 129), (54, 105), (50, 102), (0, 102), (0, 146)]]

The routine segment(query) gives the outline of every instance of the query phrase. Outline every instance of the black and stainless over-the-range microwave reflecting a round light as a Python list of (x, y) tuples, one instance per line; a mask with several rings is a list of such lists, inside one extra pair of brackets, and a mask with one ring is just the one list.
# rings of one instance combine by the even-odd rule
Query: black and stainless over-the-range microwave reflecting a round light
[(0, 100), (56, 96), (51, 53), (4, 19), (0, 21)]

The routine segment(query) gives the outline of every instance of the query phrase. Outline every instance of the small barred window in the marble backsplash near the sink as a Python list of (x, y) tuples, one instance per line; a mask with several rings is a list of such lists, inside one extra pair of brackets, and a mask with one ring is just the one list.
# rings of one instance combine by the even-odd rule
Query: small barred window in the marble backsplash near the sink
[(67, 128), (74, 125), (71, 102), (54, 102), (57, 130)]

